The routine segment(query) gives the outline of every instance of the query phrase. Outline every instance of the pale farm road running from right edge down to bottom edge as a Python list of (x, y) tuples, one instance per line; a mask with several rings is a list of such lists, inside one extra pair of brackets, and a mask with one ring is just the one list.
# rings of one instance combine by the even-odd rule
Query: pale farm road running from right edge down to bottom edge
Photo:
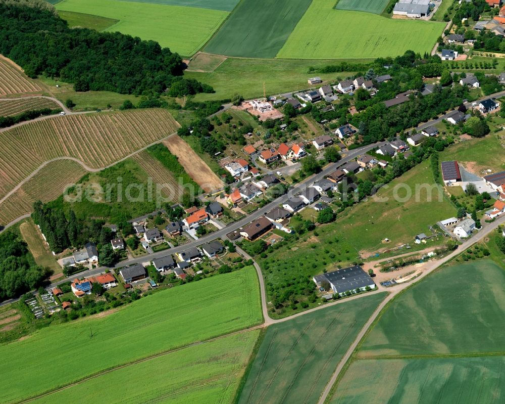
[[(347, 349), (347, 351), (343, 355), (342, 359), (340, 360), (340, 362), (337, 365), (335, 372), (333, 373), (328, 384), (326, 385), (325, 389), (323, 390), (323, 394), (321, 395), (321, 397), (318, 401), (318, 404), (324, 404), (324, 402), (326, 401), (326, 398), (328, 398), (331, 388), (335, 384), (335, 381), (337, 380), (338, 375), (342, 371), (343, 367), (345, 366), (345, 364), (347, 363), (347, 361), (351, 357), (352, 353), (355, 351), (355, 349), (358, 346), (358, 344), (360, 343), (360, 341), (363, 339), (363, 337), (366, 335), (366, 333), (370, 329), (372, 323), (375, 321), (375, 319), (377, 319), (380, 312), (382, 311), (382, 309), (385, 307), (385, 305), (389, 301), (394, 299), (394, 297), (398, 293), (400, 293), (403, 289), (408, 288), (413, 283), (419, 282), (421, 279), (428, 276), (428, 274), (430, 274), (431, 272), (436, 270), (438, 267), (440, 267), (444, 263), (448, 262), (449, 260), (456, 257), (457, 255), (461, 254), (463, 251), (465, 251), (467, 248), (471, 247), (475, 243), (481, 241), (483, 238), (488, 236), (492, 231), (494, 231), (499, 225), (501, 225), (503, 223), (505, 223), (505, 215), (500, 217), (498, 220), (490, 223), (489, 226), (486, 226), (485, 228), (483, 228), (478, 234), (476, 234), (471, 239), (465, 241), (461, 246), (458, 247), (458, 249), (451, 252), (446, 257), (443, 257), (443, 258), (436, 260), (436, 261), (432, 261), (431, 264), (424, 270), (424, 272), (418, 278), (414, 279), (410, 283), (399, 284), (399, 285), (393, 286), (391, 288), (383, 288), (380, 285), (378, 285), (378, 291), (390, 292), (389, 295), (386, 296), (386, 298), (381, 302), (381, 304), (379, 304), (379, 306), (373, 312), (372, 316), (368, 319), (368, 321), (363, 326), (363, 328), (361, 329), (359, 334), (356, 336), (356, 339), (351, 343), (351, 345), (349, 346), (349, 348)], [(366, 296), (366, 295), (363, 295), (363, 296)]]

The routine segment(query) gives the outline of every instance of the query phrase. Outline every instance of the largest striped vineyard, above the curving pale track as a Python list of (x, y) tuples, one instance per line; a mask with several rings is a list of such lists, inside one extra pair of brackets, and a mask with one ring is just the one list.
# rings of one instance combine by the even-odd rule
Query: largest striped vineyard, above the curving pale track
[(168, 111), (152, 109), (58, 116), (7, 130), (0, 150), (0, 199), (47, 160), (74, 157), (92, 168), (108, 166), (177, 127)]

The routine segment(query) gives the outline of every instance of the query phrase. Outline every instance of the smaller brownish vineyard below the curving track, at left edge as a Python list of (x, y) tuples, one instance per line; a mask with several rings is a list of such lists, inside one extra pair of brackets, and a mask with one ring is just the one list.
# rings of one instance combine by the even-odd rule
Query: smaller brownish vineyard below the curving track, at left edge
[(72, 160), (58, 160), (43, 167), (18, 191), (0, 203), (0, 223), (32, 211), (33, 202), (52, 201), (63, 193), (68, 184), (75, 183), (86, 170)]

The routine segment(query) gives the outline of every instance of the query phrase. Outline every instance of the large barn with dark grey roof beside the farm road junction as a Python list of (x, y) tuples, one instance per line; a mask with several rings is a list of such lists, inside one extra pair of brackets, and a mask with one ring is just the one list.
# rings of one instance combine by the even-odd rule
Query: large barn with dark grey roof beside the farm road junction
[(323, 282), (330, 284), (333, 293), (342, 294), (347, 291), (375, 289), (375, 283), (359, 265), (350, 266), (341, 270), (317, 275), (313, 281), (319, 287)]

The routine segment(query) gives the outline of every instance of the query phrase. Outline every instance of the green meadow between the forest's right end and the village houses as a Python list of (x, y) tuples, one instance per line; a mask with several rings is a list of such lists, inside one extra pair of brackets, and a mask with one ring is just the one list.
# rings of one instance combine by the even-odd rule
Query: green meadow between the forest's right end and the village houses
[[(196, 58), (198, 61), (199, 55)], [(341, 61), (338, 61), (340, 63)], [(366, 60), (352, 61), (367, 63)], [(245, 98), (263, 96), (263, 83), (268, 95), (285, 93), (297, 89), (308, 88), (307, 79), (318, 75), (325, 82), (334, 81), (337, 77), (344, 78), (354, 72), (342, 73), (309, 73), (311, 66), (320, 68), (334, 65), (332, 60), (286, 60), (286, 59), (242, 59), (228, 58), (212, 72), (184, 73), (185, 77), (192, 77), (214, 87), (214, 94), (197, 94), (195, 100), (222, 100), (240, 93)], [(192, 69), (192, 62), (189, 68)], [(208, 63), (196, 64), (198, 67), (208, 68)], [(230, 77), (233, 77), (230, 80)], [(338, 80), (337, 80), (338, 81)]]

